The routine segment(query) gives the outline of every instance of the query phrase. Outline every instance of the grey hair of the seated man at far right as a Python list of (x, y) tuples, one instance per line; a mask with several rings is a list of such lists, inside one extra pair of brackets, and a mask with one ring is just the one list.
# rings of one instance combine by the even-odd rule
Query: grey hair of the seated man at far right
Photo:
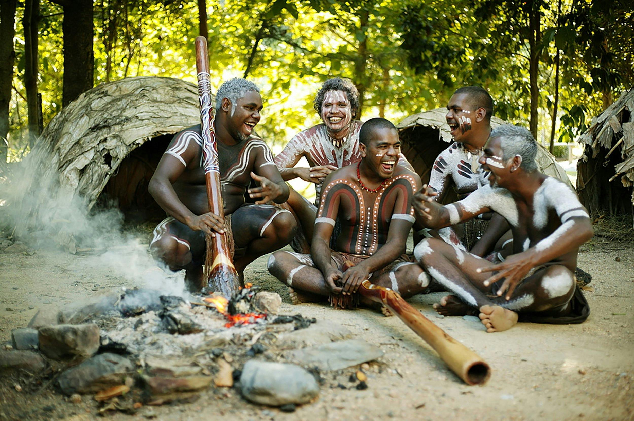
[(522, 157), (520, 168), (526, 172), (537, 170), (537, 141), (526, 127), (504, 124), (491, 131), (490, 138), (500, 138), (503, 160), (507, 161), (515, 155)]

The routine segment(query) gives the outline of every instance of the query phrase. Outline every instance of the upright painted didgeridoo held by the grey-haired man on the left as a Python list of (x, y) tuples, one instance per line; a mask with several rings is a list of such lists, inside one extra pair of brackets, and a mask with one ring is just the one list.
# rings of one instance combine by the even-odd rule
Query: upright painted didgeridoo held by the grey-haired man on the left
[[(211, 77), (209, 75), (209, 56), (207, 39), (196, 37), (196, 73), (198, 79), (198, 101), (200, 101), (200, 132), (202, 134), (202, 156), (207, 186), (209, 211), (224, 219), (224, 203), (220, 186), (220, 166), (214, 132), (214, 108), (211, 103)], [(227, 244), (226, 234), (207, 236), (205, 253), (205, 274), (207, 289), (221, 292), (231, 298), (240, 287), (240, 278), (236, 271)]]

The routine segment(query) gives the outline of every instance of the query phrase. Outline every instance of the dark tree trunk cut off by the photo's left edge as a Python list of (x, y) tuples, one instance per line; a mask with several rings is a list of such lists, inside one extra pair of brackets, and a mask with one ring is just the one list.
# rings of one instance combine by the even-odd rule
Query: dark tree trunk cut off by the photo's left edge
[(0, 170), (6, 164), (9, 133), (9, 103), (11, 102), (11, 80), (15, 50), (15, 6), (17, 0), (0, 2)]

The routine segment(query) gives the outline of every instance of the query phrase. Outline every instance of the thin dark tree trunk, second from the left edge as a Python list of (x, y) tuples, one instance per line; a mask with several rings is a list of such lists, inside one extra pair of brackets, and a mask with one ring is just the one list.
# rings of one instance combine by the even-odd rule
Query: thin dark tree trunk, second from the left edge
[(39, 0), (26, 0), (24, 3), (24, 86), (27, 91), (27, 110), (29, 113), (29, 146), (33, 148), (39, 136), (39, 110), (37, 106), (37, 22), (39, 18)]

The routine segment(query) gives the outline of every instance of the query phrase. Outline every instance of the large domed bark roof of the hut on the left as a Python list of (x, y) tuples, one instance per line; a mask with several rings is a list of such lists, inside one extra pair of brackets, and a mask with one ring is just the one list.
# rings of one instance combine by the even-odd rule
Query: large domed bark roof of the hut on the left
[(23, 180), (25, 225), (61, 200), (81, 198), (90, 210), (134, 149), (198, 122), (197, 87), (183, 80), (132, 77), (84, 92), (51, 120), (23, 161), (34, 173)]

